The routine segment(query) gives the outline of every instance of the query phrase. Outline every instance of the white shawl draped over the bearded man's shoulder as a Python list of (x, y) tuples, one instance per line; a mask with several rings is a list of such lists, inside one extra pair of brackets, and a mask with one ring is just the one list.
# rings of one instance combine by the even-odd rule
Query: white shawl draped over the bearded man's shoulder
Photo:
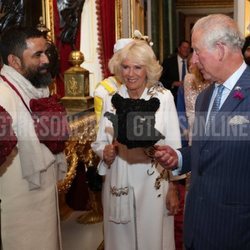
[[(27, 107), (29, 107), (30, 99), (49, 96), (48, 88), (35, 88), (27, 79), (10, 66), (4, 65), (1, 69), (1, 75), (5, 76), (16, 87)], [(11, 89), (3, 79), (1, 79), (0, 84), (4, 84)], [(67, 171), (65, 155), (63, 153), (53, 155), (44, 144), (40, 143), (35, 132), (31, 114), (16, 92), (12, 89), (11, 91), (13, 92), (13, 98), (17, 100), (17, 104), (15, 110), (9, 110), (9, 113), (16, 117), (16, 121), (13, 121), (13, 126), (18, 138), (18, 153), (22, 176), (28, 181), (29, 189), (32, 190), (40, 187), (41, 172), (46, 171), (52, 164), (56, 167), (58, 179), (63, 178)], [(6, 110), (9, 109), (9, 107), (5, 108)]]

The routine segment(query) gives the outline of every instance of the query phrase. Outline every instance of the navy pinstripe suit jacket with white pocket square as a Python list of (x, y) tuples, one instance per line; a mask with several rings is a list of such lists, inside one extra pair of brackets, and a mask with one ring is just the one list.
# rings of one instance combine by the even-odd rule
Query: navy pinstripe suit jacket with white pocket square
[[(250, 249), (250, 67), (232, 90), (205, 135), (214, 86), (197, 98), (192, 147), (180, 149), (183, 172), (192, 170), (184, 241), (195, 250)], [(237, 118), (239, 118), (237, 120)]]

